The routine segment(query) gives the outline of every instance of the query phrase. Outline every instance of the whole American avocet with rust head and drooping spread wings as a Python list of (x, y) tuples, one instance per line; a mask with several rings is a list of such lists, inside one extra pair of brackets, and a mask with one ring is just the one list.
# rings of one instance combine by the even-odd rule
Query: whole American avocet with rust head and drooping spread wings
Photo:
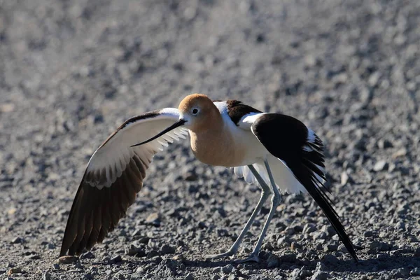
[[(190, 134), (195, 157), (208, 165), (234, 167), (248, 183), (258, 182), (260, 200), (235, 243), (223, 258), (237, 253), (262, 204), (272, 194), (271, 209), (251, 255), (258, 261), (280, 193), (309, 193), (335, 228), (350, 255), (353, 244), (324, 191), (323, 143), (300, 120), (262, 113), (236, 100), (212, 102), (204, 94), (184, 98), (178, 109), (166, 108), (130, 118), (94, 152), (87, 165), (69, 220), (60, 255), (80, 254), (104, 240), (134, 203), (153, 155)], [(139, 143), (140, 141), (140, 143)]]

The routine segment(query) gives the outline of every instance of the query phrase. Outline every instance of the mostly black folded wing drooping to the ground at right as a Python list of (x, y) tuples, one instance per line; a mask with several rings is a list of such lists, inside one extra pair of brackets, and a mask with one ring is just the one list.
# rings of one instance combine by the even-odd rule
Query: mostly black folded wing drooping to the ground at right
[[(295, 179), (321, 207), (351, 256), (357, 260), (353, 244), (325, 193), (324, 146), (321, 139), (300, 120), (279, 113), (254, 113), (245, 116), (241, 122), (244, 126), (251, 125), (251, 131), (267, 151), (290, 169)], [(300, 184), (293, 190), (299, 190)]]

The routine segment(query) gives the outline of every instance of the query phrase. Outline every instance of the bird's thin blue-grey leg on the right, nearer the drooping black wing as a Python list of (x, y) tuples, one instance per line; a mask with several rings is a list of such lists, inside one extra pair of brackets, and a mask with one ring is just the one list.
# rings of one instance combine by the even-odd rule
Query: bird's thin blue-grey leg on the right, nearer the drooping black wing
[(259, 262), (259, 258), (258, 258), (258, 253), (260, 253), (260, 248), (262, 245), (262, 241), (264, 240), (265, 234), (267, 233), (268, 227), (269, 227), (269, 223), (271, 222), (274, 212), (276, 211), (277, 206), (279, 205), (280, 202), (280, 193), (279, 190), (276, 187), (276, 183), (274, 183), (274, 178), (272, 175), (271, 170), (269, 169), (269, 165), (267, 160), (264, 161), (265, 164), (265, 168), (267, 169), (267, 173), (269, 176), (269, 181), (271, 183), (271, 188), (270, 190), (273, 193), (272, 196), (272, 204), (271, 204), (271, 208), (269, 209), (269, 214), (267, 216), (267, 221), (265, 221), (264, 227), (262, 228), (260, 237), (258, 237), (258, 241), (257, 244), (255, 245), (251, 255), (249, 255), (248, 258), (244, 259), (244, 260), (239, 260), (238, 262)]

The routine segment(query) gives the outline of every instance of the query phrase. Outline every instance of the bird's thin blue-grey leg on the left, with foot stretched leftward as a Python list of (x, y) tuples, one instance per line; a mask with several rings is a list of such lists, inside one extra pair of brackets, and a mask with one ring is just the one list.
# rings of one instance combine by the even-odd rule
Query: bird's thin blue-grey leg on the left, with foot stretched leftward
[(252, 165), (248, 165), (248, 168), (251, 169), (251, 172), (257, 179), (258, 183), (260, 183), (260, 186), (262, 189), (260, 200), (258, 201), (258, 204), (255, 207), (254, 211), (252, 212), (251, 217), (249, 217), (248, 222), (246, 222), (244, 229), (241, 231), (241, 233), (239, 234), (239, 237), (237, 237), (235, 243), (230, 247), (230, 249), (226, 251), (225, 253), (220, 253), (217, 255), (207, 255), (206, 257), (207, 259), (224, 258), (224, 257), (235, 255), (235, 253), (237, 253), (239, 246), (241, 245), (241, 242), (246, 235), (246, 232), (248, 232), (253, 221), (255, 220), (255, 217), (257, 216), (258, 212), (260, 212), (262, 205), (264, 204), (264, 202), (267, 200), (269, 196), (269, 193), (270, 193), (269, 186), (267, 186), (265, 181), (262, 180), (260, 174), (258, 174), (258, 172), (255, 170), (255, 168)]

